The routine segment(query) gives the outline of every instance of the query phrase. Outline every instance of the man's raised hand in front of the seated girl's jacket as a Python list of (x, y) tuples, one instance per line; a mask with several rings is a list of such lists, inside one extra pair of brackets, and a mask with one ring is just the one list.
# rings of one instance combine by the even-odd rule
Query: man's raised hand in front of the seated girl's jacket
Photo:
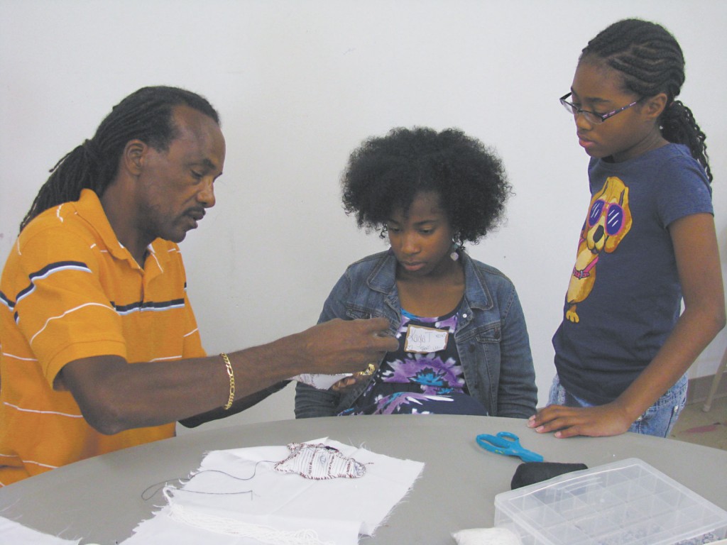
[(340, 320), (318, 324), (305, 331), (305, 354), (309, 373), (339, 374), (365, 371), (376, 365), (386, 352), (396, 350), (398, 341), (387, 334), (386, 318)]

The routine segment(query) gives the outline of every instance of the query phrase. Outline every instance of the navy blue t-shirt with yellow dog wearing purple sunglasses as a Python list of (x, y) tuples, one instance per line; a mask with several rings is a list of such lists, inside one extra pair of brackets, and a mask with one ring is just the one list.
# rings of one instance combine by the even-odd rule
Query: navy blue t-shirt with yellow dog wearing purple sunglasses
[(679, 318), (667, 227), (713, 212), (704, 169), (683, 145), (622, 163), (592, 158), (588, 176), (591, 201), (553, 347), (566, 391), (601, 405), (651, 363)]

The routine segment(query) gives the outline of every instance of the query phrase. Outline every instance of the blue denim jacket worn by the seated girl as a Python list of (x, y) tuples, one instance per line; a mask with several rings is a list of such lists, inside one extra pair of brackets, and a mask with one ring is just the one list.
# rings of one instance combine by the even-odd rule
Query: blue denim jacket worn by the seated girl
[[(535, 370), (523, 309), (515, 286), (505, 275), (460, 252), (465, 270), (465, 298), (454, 342), (470, 395), (491, 416), (528, 418), (535, 413)], [(350, 265), (324, 304), (318, 323), (342, 318), (389, 320), (389, 332), (401, 325), (396, 288), (396, 258), (390, 251)], [(335, 416), (350, 408), (369, 381), (358, 382), (340, 394), (298, 383), (296, 418)]]

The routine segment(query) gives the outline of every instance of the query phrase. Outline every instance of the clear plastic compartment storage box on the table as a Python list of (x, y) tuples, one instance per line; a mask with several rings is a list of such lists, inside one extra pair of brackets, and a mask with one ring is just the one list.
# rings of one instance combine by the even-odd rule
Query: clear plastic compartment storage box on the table
[(691, 545), (725, 538), (727, 512), (631, 458), (499, 493), (494, 525), (523, 545)]

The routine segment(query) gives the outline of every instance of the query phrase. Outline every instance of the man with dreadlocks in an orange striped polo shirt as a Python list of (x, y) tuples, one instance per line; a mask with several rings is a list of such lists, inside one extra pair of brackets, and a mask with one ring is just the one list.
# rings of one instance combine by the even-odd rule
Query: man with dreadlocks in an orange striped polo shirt
[(225, 140), (203, 97), (145, 87), (68, 153), (0, 280), (0, 484), (172, 437), (303, 373), (396, 347), (383, 318), (337, 320), (206, 357), (179, 247), (214, 206)]

